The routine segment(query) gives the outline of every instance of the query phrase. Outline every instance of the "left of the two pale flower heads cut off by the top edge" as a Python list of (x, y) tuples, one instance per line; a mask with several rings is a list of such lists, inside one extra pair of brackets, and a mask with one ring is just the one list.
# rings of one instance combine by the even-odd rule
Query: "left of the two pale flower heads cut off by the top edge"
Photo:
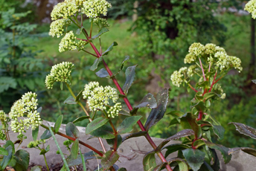
[(79, 7), (74, 0), (65, 0), (54, 6), (51, 11), (51, 20), (68, 19), (79, 11)]

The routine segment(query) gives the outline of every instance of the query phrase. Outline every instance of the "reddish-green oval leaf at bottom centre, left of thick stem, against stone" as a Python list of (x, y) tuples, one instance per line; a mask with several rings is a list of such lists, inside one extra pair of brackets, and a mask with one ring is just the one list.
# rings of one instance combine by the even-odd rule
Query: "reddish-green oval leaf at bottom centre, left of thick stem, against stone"
[(103, 155), (100, 164), (104, 169), (108, 169), (109, 167), (112, 167), (112, 165), (115, 164), (116, 161), (118, 161), (118, 158), (118, 153), (110, 150)]

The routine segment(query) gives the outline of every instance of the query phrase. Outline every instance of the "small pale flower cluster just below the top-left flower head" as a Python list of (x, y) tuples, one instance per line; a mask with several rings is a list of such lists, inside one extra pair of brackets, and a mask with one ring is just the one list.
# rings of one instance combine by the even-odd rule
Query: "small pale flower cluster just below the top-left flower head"
[(58, 19), (51, 23), (50, 25), (50, 36), (57, 36), (58, 38), (63, 35), (64, 28), (71, 25), (70, 19)]

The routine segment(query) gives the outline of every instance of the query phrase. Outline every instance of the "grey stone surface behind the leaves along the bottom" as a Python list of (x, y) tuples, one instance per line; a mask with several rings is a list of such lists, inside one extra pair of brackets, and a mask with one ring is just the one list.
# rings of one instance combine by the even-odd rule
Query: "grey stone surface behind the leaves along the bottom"
[[(50, 126), (54, 126), (54, 123), (46, 122), (44, 121), (45, 125), (50, 124)], [(89, 139), (89, 135), (85, 134), (85, 128), (77, 126), (77, 128), (80, 131), (80, 140), (88, 143), (91, 146), (94, 146), (96, 149), (102, 150), (99, 141), (97, 138)], [(42, 135), (42, 133), (45, 131), (42, 127), (39, 128), (39, 136)], [(65, 133), (65, 125), (63, 124), (60, 127), (60, 132)], [(16, 136), (18, 134), (10, 132), (10, 138), (12, 141), (16, 140)], [(25, 149), (31, 154), (31, 163), (39, 164), (39, 165), (45, 165), (45, 161), (43, 158), (43, 155), (39, 155), (39, 149), (29, 149), (26, 146), (30, 141), (33, 141), (31, 129), (29, 129), (26, 133), (28, 136), (28, 139), (26, 139), (20, 146), (19, 149)], [(63, 146), (63, 141), (66, 140), (66, 138), (61, 137), (60, 135), (56, 135), (57, 141), (59, 142), (59, 145), (63, 152), (65, 154), (69, 154), (67, 149), (65, 149), (65, 146)], [(163, 141), (161, 138), (153, 138), (153, 141), (158, 145)], [(3, 141), (0, 141), (1, 144), (3, 144)], [(103, 143), (106, 146), (106, 150), (109, 150), (109, 145), (106, 143), (105, 140), (103, 140)], [(179, 143), (179, 141), (170, 141), (170, 143)], [(168, 143), (168, 144), (170, 144)], [(57, 146), (54, 143), (53, 138), (49, 138), (46, 141), (45, 146), (48, 146), (50, 144), (50, 151), (46, 153), (46, 158), (48, 161), (48, 164), (55, 164), (62, 162), (61, 156), (56, 154)], [(18, 144), (16, 144), (17, 148)], [(89, 152), (90, 149), (86, 148), (85, 146), (80, 145), (80, 149), (82, 152)], [(145, 155), (145, 153), (152, 150), (152, 147), (147, 142), (146, 138), (139, 137), (139, 138), (130, 138), (127, 141), (124, 141), (124, 143), (121, 144), (121, 146), (118, 148), (118, 154), (120, 155), (119, 161), (116, 163), (118, 167), (125, 167), (128, 171), (140, 171), (143, 170), (143, 164), (142, 160)], [(232, 155), (231, 161), (228, 164), (224, 164), (223, 159), (220, 155), (220, 152), (218, 154), (220, 156), (220, 171), (228, 170), (228, 171), (252, 171), (256, 168), (256, 158), (252, 155), (248, 155), (244, 152), (235, 152), (234, 155)], [(168, 158), (176, 157), (176, 153), (170, 155)], [(156, 156), (158, 164), (160, 164), (159, 158)], [(87, 170), (95, 170), (97, 167), (97, 164), (99, 164), (100, 161), (97, 160), (90, 160), (87, 164)]]

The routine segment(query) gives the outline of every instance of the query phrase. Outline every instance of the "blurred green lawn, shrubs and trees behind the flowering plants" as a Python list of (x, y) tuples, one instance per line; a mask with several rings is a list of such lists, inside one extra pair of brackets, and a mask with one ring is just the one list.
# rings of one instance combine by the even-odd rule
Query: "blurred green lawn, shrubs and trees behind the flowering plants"
[[(58, 1), (48, 0), (0, 0), (0, 109), (10, 111), (15, 100), (27, 91), (38, 94), (42, 106), (42, 118), (55, 121), (64, 114), (64, 123), (82, 116), (79, 106), (65, 105), (70, 95), (67, 88), (60, 90), (60, 84), (48, 90), (44, 80), (51, 66), (70, 61), (76, 66), (71, 80), (75, 94), (83, 90), (90, 81), (111, 85), (112, 80), (100, 79), (89, 68), (94, 58), (82, 51), (60, 53), (60, 39), (48, 36), (51, 23), (50, 12)], [(256, 128), (256, 85), (255, 74), (255, 20), (243, 11), (247, 1), (208, 0), (112, 0), (108, 12), (109, 32), (101, 36), (103, 49), (112, 42), (118, 46), (104, 59), (112, 71), (117, 71), (126, 55), (129, 65), (136, 65), (136, 79), (129, 90), (128, 98), (133, 106), (148, 92), (157, 94), (161, 88), (171, 88), (167, 112), (190, 110), (193, 93), (187, 88), (176, 88), (170, 83), (170, 74), (184, 65), (188, 47), (193, 42), (215, 43), (227, 53), (242, 60), (243, 72), (230, 71), (220, 81), (225, 100), (215, 101), (211, 112), (225, 128), (225, 139), (220, 142), (228, 147), (255, 147), (256, 141), (240, 135), (229, 122), (240, 122)], [(89, 28), (89, 20), (83, 21)], [(74, 25), (70, 29), (75, 29)], [(93, 30), (97, 33), (97, 29)], [(99, 43), (95, 42), (96, 47)], [(92, 49), (88, 46), (88, 51)], [(99, 65), (103, 68), (102, 65)], [(124, 71), (118, 75), (124, 84)], [(83, 101), (86, 106), (86, 101)], [(141, 109), (142, 121), (149, 109)], [(120, 123), (121, 118), (115, 122)], [(150, 130), (150, 135), (168, 138), (179, 131), (169, 127), (172, 118), (168, 115)], [(79, 123), (86, 126), (86, 121)], [(138, 130), (138, 128), (137, 128)], [(217, 140), (216, 140), (217, 141)]]

